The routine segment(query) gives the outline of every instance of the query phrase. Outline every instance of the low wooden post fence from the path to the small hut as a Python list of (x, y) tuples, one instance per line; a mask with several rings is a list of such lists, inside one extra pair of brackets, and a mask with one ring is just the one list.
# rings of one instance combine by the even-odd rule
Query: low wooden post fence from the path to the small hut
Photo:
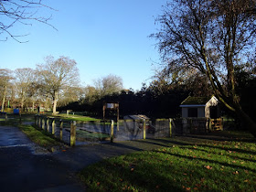
[[(5, 121), (7, 120), (5, 115)], [(101, 141), (127, 141), (171, 137), (173, 134), (208, 133), (223, 130), (222, 119), (175, 118), (102, 122), (63, 121), (35, 115), (35, 125), (70, 146)]]

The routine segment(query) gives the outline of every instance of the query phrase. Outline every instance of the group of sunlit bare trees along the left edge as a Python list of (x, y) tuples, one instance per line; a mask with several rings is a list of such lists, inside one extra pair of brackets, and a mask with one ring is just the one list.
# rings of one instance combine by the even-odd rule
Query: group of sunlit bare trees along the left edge
[(5, 108), (34, 112), (42, 107), (56, 113), (57, 102), (78, 101), (81, 89), (76, 65), (68, 57), (48, 56), (36, 69), (0, 69), (1, 112)]

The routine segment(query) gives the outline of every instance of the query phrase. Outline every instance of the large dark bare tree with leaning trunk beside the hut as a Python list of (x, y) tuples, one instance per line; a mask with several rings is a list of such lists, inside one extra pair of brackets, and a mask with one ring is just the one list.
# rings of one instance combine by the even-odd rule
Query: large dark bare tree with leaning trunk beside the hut
[(256, 136), (256, 123), (240, 107), (234, 67), (247, 62), (255, 50), (254, 0), (173, 0), (157, 21), (162, 26), (153, 35), (173, 71), (197, 70), (230, 111)]

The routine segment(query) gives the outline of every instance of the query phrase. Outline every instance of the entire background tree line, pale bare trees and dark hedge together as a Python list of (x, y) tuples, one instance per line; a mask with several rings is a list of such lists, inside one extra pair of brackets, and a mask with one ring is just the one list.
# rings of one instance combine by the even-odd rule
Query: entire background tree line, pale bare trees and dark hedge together
[[(256, 120), (254, 74), (246, 65), (235, 68), (240, 105)], [(155, 118), (179, 117), (179, 105), (188, 95), (210, 97), (214, 94), (205, 76), (199, 73), (166, 76), (165, 69), (156, 70), (152, 81), (143, 84), (140, 91), (123, 89), (122, 78), (112, 74), (82, 87), (75, 60), (51, 56), (36, 69), (0, 69), (0, 91), (2, 112), (8, 107), (36, 112), (40, 106), (49, 112), (72, 110), (102, 117), (103, 102), (113, 101), (120, 103), (121, 116), (145, 114)], [(224, 106), (222, 110), (235, 117)]]

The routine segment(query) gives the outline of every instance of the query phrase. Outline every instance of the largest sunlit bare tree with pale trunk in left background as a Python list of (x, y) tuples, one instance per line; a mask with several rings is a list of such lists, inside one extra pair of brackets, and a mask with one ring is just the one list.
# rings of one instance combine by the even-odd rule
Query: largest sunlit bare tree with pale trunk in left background
[(79, 69), (74, 59), (60, 57), (54, 59), (48, 56), (45, 64), (37, 65), (39, 83), (42, 90), (53, 100), (53, 114), (56, 113), (59, 91), (67, 87), (78, 87), (80, 82)]

